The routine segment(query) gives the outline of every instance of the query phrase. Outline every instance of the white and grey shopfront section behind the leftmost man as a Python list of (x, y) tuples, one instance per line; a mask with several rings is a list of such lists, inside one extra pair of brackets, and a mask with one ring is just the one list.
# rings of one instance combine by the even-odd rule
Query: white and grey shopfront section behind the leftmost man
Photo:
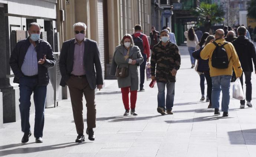
[[(13, 83), (14, 75), (9, 66), (9, 58), (16, 43), (27, 38), (28, 24), (39, 23), (42, 31), (40, 38), (48, 41), (54, 52), (59, 51), (56, 4), (57, 0), (0, 0), (0, 90), (3, 93), (0, 98), (0, 123), (16, 122), (20, 119), (19, 86)], [(53, 72), (54, 69), (50, 69), (51, 76)], [(48, 107), (54, 104), (53, 83), (53, 78), (50, 78), (46, 96)], [(62, 89), (58, 91), (57, 98), (62, 99)], [(33, 95), (31, 98), (33, 113)]]

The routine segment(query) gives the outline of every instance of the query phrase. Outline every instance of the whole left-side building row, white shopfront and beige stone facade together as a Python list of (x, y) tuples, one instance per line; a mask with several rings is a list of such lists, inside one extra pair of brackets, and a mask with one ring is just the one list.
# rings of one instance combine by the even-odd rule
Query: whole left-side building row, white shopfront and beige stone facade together
[[(29, 23), (41, 25), (40, 38), (48, 41), (54, 52), (74, 38), (74, 23), (85, 23), (86, 37), (98, 42), (104, 78), (111, 79), (108, 73), (115, 47), (124, 34), (134, 33), (135, 24), (142, 25), (143, 33), (149, 35), (151, 17), (151, 0), (0, 0), (0, 127), (20, 119), (19, 84), (13, 83), (9, 58), (15, 44), (28, 37)], [(46, 107), (69, 97), (67, 87), (58, 86), (58, 55), (55, 59), (56, 68), (49, 70)], [(33, 95), (31, 102), (33, 113)]]

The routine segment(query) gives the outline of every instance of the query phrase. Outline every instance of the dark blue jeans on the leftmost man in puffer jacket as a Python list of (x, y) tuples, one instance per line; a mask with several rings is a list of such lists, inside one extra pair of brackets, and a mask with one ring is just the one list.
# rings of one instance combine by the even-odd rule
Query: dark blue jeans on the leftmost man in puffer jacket
[(38, 86), (38, 78), (23, 76), (20, 78), (20, 117), (22, 132), (30, 131), (29, 110), (31, 106), (30, 96), (34, 93), (35, 103), (35, 127), (34, 136), (43, 137), (43, 126), (45, 122), (46, 86)]

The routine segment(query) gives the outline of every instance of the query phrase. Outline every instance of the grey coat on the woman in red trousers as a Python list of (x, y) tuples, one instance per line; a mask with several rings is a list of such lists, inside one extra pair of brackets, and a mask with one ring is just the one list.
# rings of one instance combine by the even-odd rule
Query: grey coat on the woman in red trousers
[(137, 91), (139, 87), (138, 65), (143, 62), (143, 57), (141, 55), (140, 48), (137, 46), (133, 46), (130, 48), (129, 57), (131, 59), (136, 59), (137, 64), (128, 64), (125, 62), (124, 50), (124, 45), (119, 45), (115, 48), (115, 53), (113, 56), (109, 74), (115, 75), (117, 68), (127, 67), (129, 65), (129, 75), (126, 78), (117, 78), (118, 87), (123, 88), (131, 86), (131, 91)]

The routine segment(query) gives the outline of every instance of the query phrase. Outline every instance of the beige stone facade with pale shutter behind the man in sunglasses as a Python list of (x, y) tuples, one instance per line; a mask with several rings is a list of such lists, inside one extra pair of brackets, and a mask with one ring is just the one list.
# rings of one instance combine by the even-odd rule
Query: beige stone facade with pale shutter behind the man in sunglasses
[(110, 63), (124, 34), (134, 33), (135, 24), (146, 35), (151, 31), (151, 0), (58, 0), (57, 10), (65, 16), (65, 20), (57, 17), (61, 43), (74, 38), (74, 23), (88, 26), (86, 37), (98, 42), (105, 79), (114, 79), (109, 76)]

